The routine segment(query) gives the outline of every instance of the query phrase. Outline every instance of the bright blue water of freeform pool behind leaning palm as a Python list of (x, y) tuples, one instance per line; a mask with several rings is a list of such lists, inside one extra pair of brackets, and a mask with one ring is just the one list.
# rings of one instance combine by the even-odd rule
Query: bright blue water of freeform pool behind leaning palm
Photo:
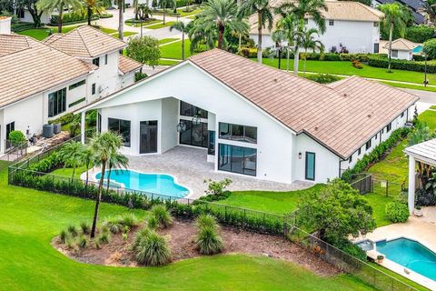
[[(107, 178), (108, 171), (104, 174)], [(102, 176), (98, 173), (95, 178)], [(139, 190), (164, 196), (184, 197), (189, 190), (174, 182), (173, 176), (163, 174), (145, 174), (131, 170), (112, 170), (111, 181), (124, 184), (124, 187), (132, 190)]]

